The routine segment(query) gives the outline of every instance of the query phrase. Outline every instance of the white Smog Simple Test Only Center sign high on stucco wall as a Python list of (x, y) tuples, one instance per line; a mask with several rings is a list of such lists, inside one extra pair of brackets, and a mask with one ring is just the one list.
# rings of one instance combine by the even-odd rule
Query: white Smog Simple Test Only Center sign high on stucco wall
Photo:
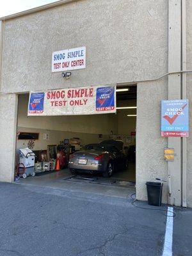
[(52, 52), (52, 72), (86, 68), (86, 47)]

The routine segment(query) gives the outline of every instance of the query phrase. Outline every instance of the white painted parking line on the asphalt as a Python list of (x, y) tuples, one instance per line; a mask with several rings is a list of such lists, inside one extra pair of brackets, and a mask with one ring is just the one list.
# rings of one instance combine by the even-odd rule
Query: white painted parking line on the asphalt
[(173, 207), (168, 207), (166, 218), (166, 232), (164, 236), (163, 256), (172, 256), (173, 243)]

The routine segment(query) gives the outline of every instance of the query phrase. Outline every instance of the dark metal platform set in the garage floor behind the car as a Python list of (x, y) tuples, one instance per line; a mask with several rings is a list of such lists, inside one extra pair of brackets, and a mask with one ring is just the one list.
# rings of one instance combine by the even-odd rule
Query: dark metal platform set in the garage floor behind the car
[(107, 178), (100, 178), (100, 177), (87, 177), (81, 175), (74, 175), (72, 177), (68, 177), (64, 179), (67, 181), (73, 182), (85, 182), (85, 183), (93, 183), (93, 184), (102, 184), (108, 186), (120, 186), (120, 187), (134, 187), (135, 182), (132, 181), (125, 181), (125, 180), (116, 180), (116, 179), (107, 179)]

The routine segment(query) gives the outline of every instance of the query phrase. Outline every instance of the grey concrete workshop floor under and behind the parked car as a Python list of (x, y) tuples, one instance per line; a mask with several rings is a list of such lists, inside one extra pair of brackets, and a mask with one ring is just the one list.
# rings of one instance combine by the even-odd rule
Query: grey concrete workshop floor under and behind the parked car
[[(111, 184), (108, 178), (103, 178), (101, 175), (97, 175), (97, 178), (102, 182), (84, 182), (84, 180), (78, 180), (73, 182), (68, 178), (72, 177), (72, 173), (68, 169), (60, 170), (58, 172), (49, 173), (47, 175), (28, 177), (27, 179), (20, 178), (17, 184), (29, 184), (34, 186), (56, 188), (66, 191), (76, 191), (79, 193), (92, 193), (95, 195), (106, 196), (118, 196), (121, 198), (128, 198), (132, 193), (135, 193), (135, 186), (116, 186)], [(96, 177), (94, 175), (94, 177)], [(113, 180), (135, 181), (135, 169), (134, 164), (129, 165), (129, 170), (122, 172), (115, 172), (111, 177)], [(106, 184), (104, 184), (106, 182)]]

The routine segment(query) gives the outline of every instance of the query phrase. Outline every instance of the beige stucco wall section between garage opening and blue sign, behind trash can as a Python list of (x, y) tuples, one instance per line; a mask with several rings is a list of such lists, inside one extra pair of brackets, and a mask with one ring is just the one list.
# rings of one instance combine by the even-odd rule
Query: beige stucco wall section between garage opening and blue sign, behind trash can
[[(168, 139), (160, 133), (161, 100), (167, 99), (167, 78), (156, 82), (138, 84), (137, 129), (136, 129), (136, 192), (137, 198), (147, 200), (147, 181), (167, 179), (168, 163), (163, 150)], [(143, 100), (145, 99), (145, 104)], [(163, 202), (167, 202), (167, 184), (163, 184)]]

